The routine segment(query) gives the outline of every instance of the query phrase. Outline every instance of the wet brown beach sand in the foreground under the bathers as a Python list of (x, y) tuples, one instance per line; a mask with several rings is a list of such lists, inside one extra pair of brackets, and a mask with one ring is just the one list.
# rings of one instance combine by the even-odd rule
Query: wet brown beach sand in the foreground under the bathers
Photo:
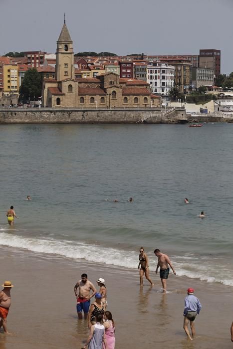
[[(101, 251), (100, 251), (101, 253)], [(111, 256), (109, 256), (111, 258)], [(8, 315), (11, 335), (0, 332), (0, 349), (80, 349), (88, 337), (87, 323), (77, 320), (73, 287), (82, 273), (94, 284), (106, 280), (108, 310), (116, 321), (116, 349), (227, 349), (232, 348), (232, 287), (174, 276), (167, 295), (161, 293), (159, 274), (151, 273), (155, 287), (139, 287), (135, 270), (0, 248), (0, 280), (10, 280), (12, 305)], [(217, 273), (220, 271), (217, 269)], [(183, 330), (184, 298), (195, 288), (203, 310), (196, 320), (197, 339)]]

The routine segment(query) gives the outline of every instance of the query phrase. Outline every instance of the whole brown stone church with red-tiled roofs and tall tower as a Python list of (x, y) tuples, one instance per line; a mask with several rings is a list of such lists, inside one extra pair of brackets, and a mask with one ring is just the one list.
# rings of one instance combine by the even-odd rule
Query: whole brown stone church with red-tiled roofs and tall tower
[(43, 80), (42, 107), (148, 108), (157, 107), (159, 100), (147, 82), (115, 73), (75, 79), (73, 41), (64, 20), (57, 40), (55, 79)]

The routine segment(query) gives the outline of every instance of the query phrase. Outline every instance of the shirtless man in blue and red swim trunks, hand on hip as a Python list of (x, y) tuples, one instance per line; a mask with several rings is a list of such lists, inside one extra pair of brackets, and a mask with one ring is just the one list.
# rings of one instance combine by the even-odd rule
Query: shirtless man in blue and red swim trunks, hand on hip
[[(96, 289), (94, 285), (87, 280), (87, 274), (81, 275), (81, 280), (77, 282), (74, 286), (75, 297), (77, 298), (77, 313), (78, 319), (82, 319), (82, 311), (84, 313), (84, 319), (87, 319), (89, 307), (90, 307), (90, 299), (96, 294)], [(79, 288), (79, 291), (77, 291)], [(92, 294), (90, 295), (90, 292)]]

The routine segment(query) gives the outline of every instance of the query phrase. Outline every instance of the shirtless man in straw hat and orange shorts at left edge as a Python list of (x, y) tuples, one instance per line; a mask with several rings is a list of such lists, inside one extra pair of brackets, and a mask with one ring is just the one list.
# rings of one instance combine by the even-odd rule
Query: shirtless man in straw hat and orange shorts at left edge
[(11, 285), (10, 281), (5, 281), (4, 285), (1, 286), (4, 288), (0, 292), (0, 329), (2, 326), (4, 333), (8, 335), (8, 331), (6, 328), (6, 318), (11, 304), (10, 290), (11, 287), (13, 287), (13, 285)]

